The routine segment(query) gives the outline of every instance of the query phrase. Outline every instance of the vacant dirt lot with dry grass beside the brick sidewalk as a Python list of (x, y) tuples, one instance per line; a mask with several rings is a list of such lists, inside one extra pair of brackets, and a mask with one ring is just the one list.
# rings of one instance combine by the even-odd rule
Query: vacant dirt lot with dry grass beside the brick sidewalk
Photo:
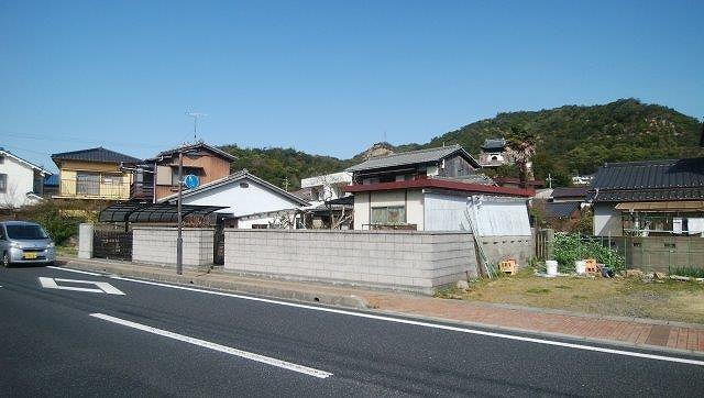
[(542, 278), (525, 269), (515, 276), (476, 281), (469, 291), (452, 289), (438, 296), (704, 324), (704, 284), (700, 283)]

